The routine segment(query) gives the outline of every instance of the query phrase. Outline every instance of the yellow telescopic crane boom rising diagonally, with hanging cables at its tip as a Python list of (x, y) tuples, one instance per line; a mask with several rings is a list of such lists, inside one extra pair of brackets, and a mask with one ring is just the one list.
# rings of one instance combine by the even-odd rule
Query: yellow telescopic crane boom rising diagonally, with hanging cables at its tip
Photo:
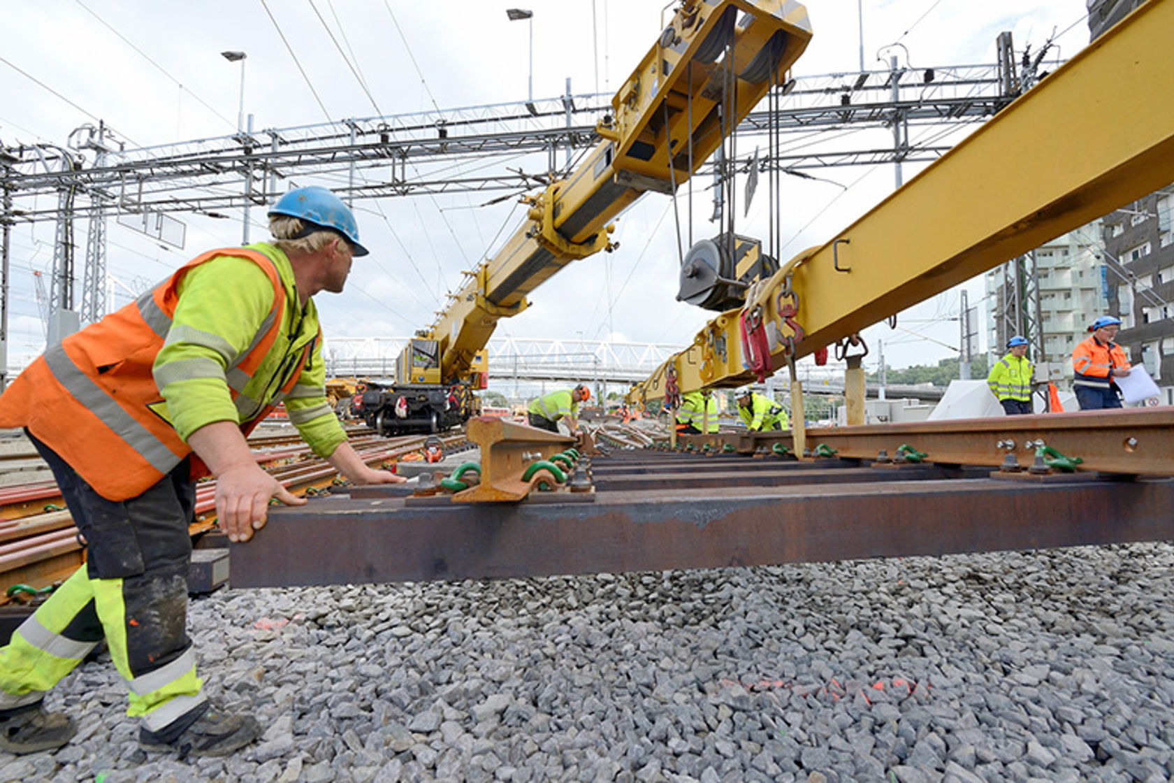
[(571, 262), (609, 249), (615, 218), (645, 191), (686, 182), (775, 85), (811, 38), (794, 0), (683, 0), (612, 99), (601, 141), (565, 180), (529, 196), (527, 220), (470, 279), (431, 328), (421, 370), (410, 343), (400, 383), (446, 383), (481, 365), (500, 318)]

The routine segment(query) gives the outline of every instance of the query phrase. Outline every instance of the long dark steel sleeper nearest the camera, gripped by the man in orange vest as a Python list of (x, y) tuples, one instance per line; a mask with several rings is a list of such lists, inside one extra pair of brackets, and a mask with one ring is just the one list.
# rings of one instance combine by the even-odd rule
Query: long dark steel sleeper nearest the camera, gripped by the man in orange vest
[[(600, 480), (605, 467), (616, 464), (622, 475), (641, 457), (661, 464), (662, 487), (608, 490)], [(673, 463), (689, 468), (683, 478), (674, 475)], [(690, 487), (699, 464), (848, 480), (832, 491), (807, 482)], [(1174, 539), (1174, 480), (1167, 478), (991, 478), (978, 468), (943, 478), (951, 472), (940, 466), (861, 467), (853, 460), (829, 470), (781, 458), (648, 452), (595, 458), (591, 472), (596, 492), (588, 497), (554, 492), (525, 502), (465, 504), (363, 487), (329, 504), (277, 508), (252, 540), (231, 545), (231, 581), (498, 579)]]

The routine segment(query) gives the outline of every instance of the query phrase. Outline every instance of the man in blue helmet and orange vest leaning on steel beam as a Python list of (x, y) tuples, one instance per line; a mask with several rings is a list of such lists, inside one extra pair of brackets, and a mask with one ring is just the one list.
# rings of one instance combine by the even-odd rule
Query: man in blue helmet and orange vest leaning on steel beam
[[(285, 403), (315, 453), (358, 484), (402, 481), (363, 464), (325, 397), (311, 297), (340, 292), (364, 256), (351, 210), (325, 188), (285, 194), (272, 243), (205, 252), (136, 302), (49, 347), (0, 396), (23, 426), (81, 535), (79, 568), (0, 648), (0, 748), (63, 745), (74, 721), (43, 707), (102, 639), (127, 680), (140, 745), (223, 756), (256, 740), (212, 708), (187, 635), (195, 480), (216, 481), (217, 524), (247, 541), (270, 498), (299, 505), (245, 434)], [(194, 452), (194, 453), (193, 453)]]

